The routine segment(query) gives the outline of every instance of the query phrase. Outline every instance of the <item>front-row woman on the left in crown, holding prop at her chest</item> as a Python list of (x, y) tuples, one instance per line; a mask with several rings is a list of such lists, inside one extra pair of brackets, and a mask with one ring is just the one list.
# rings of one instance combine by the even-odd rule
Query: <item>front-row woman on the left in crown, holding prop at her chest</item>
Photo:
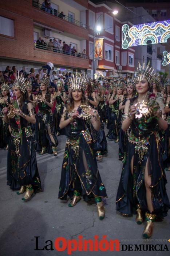
[(18, 195), (26, 191), (22, 198), (26, 202), (34, 192), (41, 190), (29, 125), (35, 123), (35, 115), (32, 103), (28, 100), (27, 82), (23, 76), (16, 77), (12, 90), (15, 99), (12, 99), (8, 107), (3, 108), (4, 120), (10, 123), (12, 129), (7, 156), (7, 185), (12, 190), (20, 189)]

